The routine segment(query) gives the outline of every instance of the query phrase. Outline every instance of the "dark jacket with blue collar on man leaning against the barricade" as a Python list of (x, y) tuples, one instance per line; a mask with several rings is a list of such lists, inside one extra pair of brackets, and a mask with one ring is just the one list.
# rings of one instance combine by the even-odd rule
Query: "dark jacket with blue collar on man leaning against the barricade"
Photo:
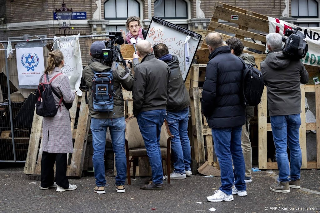
[(167, 63), (171, 70), (170, 74), (170, 94), (167, 105), (168, 111), (179, 111), (190, 106), (190, 97), (181, 74), (179, 59), (175, 55), (165, 55), (160, 60)]

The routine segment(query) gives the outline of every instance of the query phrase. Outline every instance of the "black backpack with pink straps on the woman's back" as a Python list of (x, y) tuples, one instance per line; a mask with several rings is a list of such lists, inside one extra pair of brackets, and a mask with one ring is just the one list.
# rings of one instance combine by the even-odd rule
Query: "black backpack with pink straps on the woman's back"
[(53, 117), (57, 114), (58, 108), (60, 107), (63, 98), (60, 98), (59, 106), (57, 108), (54, 97), (52, 95), (53, 90), (51, 87), (51, 82), (59, 75), (62, 75), (62, 73), (56, 74), (50, 81), (47, 81), (47, 78), (49, 80), (49, 76), (47, 76), (47, 78), (44, 78), (44, 83), (39, 83), (36, 92), (37, 115), (43, 117)]

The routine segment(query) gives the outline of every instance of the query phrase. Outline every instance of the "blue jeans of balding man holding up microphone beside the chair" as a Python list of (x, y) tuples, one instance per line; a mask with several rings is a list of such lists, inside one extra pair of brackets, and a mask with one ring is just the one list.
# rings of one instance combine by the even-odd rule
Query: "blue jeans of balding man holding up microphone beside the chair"
[(152, 171), (154, 184), (162, 184), (162, 157), (160, 151), (160, 133), (166, 111), (150, 110), (140, 112), (137, 121), (142, 134)]

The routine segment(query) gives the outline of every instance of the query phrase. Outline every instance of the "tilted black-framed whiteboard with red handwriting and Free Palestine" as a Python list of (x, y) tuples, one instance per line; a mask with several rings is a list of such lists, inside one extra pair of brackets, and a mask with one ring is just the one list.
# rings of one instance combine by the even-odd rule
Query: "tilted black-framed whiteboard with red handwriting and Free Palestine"
[[(152, 17), (146, 40), (152, 46), (157, 43), (167, 45), (169, 53), (178, 57), (183, 80), (186, 80), (201, 35), (157, 17)], [(185, 45), (186, 41), (188, 45)], [(185, 51), (185, 48), (189, 51)]]

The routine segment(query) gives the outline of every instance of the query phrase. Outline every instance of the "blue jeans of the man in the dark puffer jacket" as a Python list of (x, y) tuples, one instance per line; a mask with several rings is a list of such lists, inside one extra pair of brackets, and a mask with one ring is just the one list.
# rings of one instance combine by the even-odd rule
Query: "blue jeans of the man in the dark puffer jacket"
[[(220, 164), (221, 186), (220, 190), (226, 194), (232, 194), (232, 185), (239, 191), (245, 191), (244, 182), (244, 158), (241, 148), (242, 126), (230, 128), (212, 128), (214, 150)], [(232, 157), (232, 160), (231, 160)], [(232, 169), (232, 161), (234, 172)]]

